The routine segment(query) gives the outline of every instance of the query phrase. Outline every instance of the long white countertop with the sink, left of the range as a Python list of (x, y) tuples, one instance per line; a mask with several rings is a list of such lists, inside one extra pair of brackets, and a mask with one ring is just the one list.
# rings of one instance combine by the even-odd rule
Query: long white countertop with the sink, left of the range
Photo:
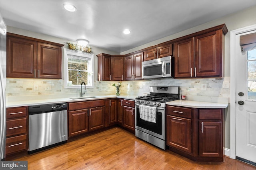
[(50, 98), (50, 99), (36, 99), (36, 100), (28, 100), (24, 98), (24, 100), (7, 102), (6, 107), (20, 107), (20, 106), (34, 106), (34, 105), (43, 105), (43, 104), (56, 104), (56, 103), (65, 103), (65, 102), (78, 102), (78, 101), (86, 101), (86, 100), (99, 100), (99, 99), (108, 99), (108, 98), (122, 98), (128, 100), (135, 100), (138, 96), (132, 95), (103, 95), (103, 96), (95, 96), (96, 98), (80, 98), (80, 99), (71, 99), (71, 98)]

